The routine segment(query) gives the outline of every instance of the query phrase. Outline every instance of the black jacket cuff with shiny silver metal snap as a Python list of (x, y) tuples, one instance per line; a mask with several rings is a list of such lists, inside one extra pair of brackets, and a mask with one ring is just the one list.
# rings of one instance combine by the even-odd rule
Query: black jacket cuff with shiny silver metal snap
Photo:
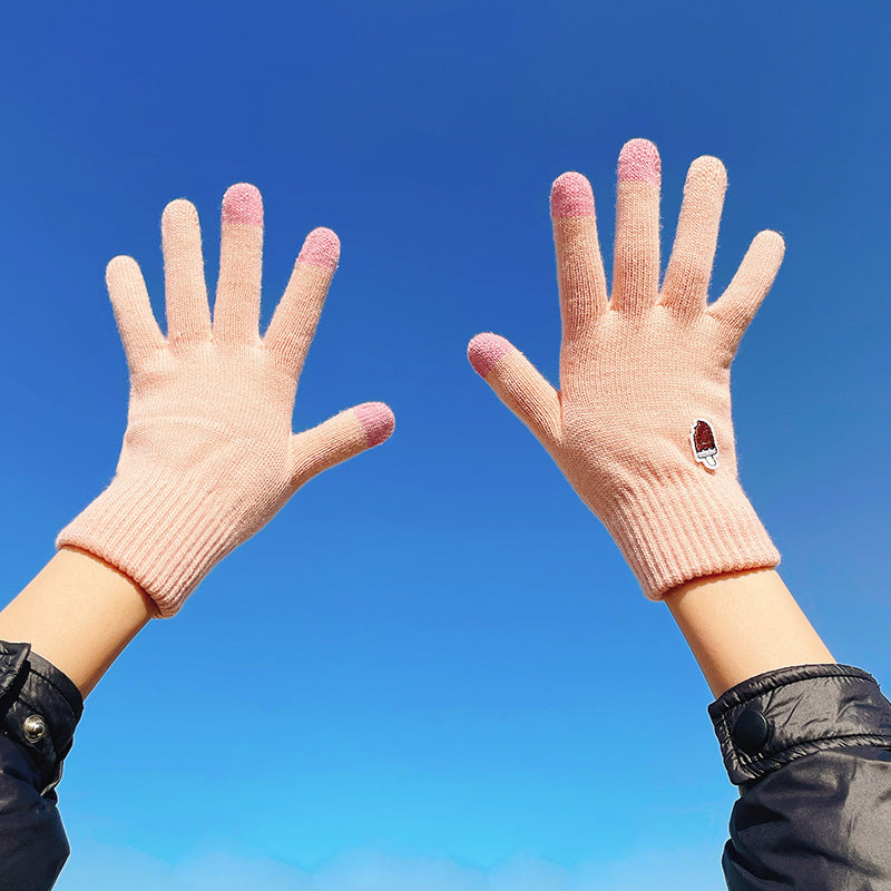
[(27, 752), (45, 795), (61, 780), (84, 697), (75, 683), (30, 644), (0, 640), (0, 730)]

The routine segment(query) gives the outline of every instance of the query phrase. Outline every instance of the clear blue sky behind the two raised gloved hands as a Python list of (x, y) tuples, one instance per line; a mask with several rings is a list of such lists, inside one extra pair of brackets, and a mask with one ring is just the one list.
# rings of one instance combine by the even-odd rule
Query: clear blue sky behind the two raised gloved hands
[[(713, 294), (784, 268), (733, 369), (741, 478), (840, 662), (891, 678), (884, 3), (13, 4), (0, 56), (4, 597), (114, 473), (105, 292), (164, 322), (159, 221), (265, 198), (262, 325), (303, 236), (340, 271), (294, 412), (384, 400), (392, 440), (309, 483), (88, 698), (57, 888), (723, 887), (735, 789), (664, 605), (471, 370), (479, 331), (556, 380), (548, 192), (623, 143), (730, 173)], [(607, 256), (607, 263), (610, 256)]]

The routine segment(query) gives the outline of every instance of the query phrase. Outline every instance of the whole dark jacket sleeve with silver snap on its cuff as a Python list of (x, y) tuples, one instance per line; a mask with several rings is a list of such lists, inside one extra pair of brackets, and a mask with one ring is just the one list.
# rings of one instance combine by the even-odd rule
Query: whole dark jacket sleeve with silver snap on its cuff
[(57, 809), (84, 699), (29, 644), (0, 640), (0, 889), (47, 891), (70, 849)]

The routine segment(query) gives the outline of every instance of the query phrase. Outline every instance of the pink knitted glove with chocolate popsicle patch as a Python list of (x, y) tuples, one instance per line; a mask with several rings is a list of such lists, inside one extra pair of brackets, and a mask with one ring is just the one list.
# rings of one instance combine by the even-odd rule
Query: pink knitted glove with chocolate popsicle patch
[(554, 184), (559, 391), (497, 334), (468, 347), (652, 600), (693, 578), (780, 562), (737, 479), (730, 369), (780, 268), (783, 239), (760, 233), (724, 295), (706, 304), (727, 177), (717, 158), (697, 158), (659, 291), (659, 170), (646, 139), (621, 149), (611, 298), (588, 180), (567, 173)]

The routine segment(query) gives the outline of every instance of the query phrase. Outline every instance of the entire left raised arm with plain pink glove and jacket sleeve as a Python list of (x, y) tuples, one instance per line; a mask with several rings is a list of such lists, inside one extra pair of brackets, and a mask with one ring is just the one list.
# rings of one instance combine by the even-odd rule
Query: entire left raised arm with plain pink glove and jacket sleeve
[(173, 616), (213, 566), (316, 473), (385, 440), (383, 403), (302, 433), (291, 417), (340, 243), (315, 229), (263, 337), (263, 205), (223, 200), (214, 319), (197, 213), (161, 219), (167, 335), (139, 267), (107, 282), (130, 372), (115, 477), (56, 539), (58, 552), (0, 613), (0, 887), (48, 891), (69, 854), (56, 785), (84, 697), (151, 617)]

